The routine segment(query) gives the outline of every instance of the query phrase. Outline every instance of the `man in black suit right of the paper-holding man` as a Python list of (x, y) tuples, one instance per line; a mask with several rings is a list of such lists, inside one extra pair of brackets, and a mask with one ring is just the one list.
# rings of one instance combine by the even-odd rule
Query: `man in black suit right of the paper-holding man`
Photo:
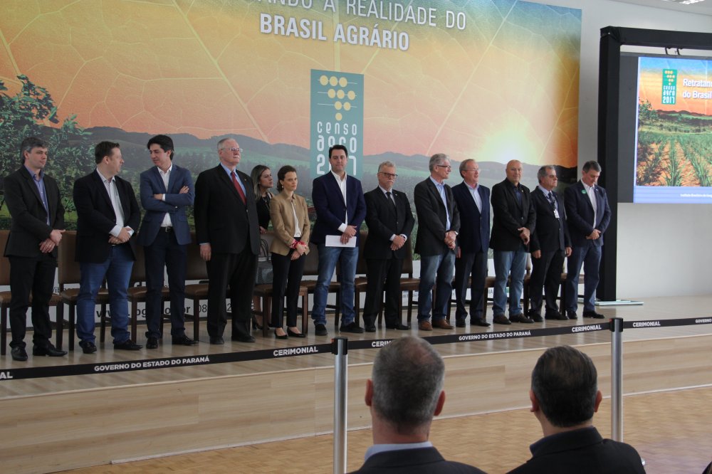
[(364, 195), (368, 238), (363, 249), (368, 271), (363, 323), (367, 332), (375, 332), (375, 321), (386, 288), (385, 319), (387, 329), (409, 330), (401, 322), (400, 278), (403, 259), (409, 251), (405, 245), (415, 219), (408, 196), (393, 189), (396, 167), (392, 162), (378, 166), (378, 187)]

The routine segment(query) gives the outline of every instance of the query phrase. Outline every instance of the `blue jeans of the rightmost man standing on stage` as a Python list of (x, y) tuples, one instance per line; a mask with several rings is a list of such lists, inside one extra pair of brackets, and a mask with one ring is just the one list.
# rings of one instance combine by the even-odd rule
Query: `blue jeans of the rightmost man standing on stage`
[(596, 288), (600, 280), (598, 271), (601, 265), (601, 246), (587, 241), (581, 247), (571, 249), (571, 256), (566, 265), (566, 302), (567, 311), (576, 312), (578, 307), (578, 275), (583, 265), (583, 310), (596, 310)]

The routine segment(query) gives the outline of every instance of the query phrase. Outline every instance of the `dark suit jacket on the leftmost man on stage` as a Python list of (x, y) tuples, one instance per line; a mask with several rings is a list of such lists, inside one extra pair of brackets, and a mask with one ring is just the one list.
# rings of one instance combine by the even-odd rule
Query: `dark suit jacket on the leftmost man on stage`
[[(40, 243), (49, 237), (53, 229), (64, 228), (64, 206), (57, 181), (46, 174), (43, 181), (49, 207), (49, 225), (40, 192), (27, 168), (23, 165), (5, 178), (5, 202), (12, 217), (10, 235), (5, 246), (6, 257), (38, 257), (41, 255)], [(57, 248), (52, 251), (52, 256), (57, 257)]]

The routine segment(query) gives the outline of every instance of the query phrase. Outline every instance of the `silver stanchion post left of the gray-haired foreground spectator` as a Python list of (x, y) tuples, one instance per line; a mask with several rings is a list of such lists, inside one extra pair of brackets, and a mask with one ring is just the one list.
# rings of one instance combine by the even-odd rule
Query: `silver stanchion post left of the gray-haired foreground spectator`
[(335, 337), (331, 342), (334, 362), (334, 474), (346, 472), (346, 389), (348, 341)]

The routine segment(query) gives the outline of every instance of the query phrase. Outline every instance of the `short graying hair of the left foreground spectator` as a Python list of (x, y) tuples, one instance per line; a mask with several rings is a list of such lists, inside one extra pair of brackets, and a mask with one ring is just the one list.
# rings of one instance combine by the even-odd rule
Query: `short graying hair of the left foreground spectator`
[(425, 339), (406, 336), (379, 350), (372, 407), (399, 433), (428, 425), (445, 381), (445, 363)]

